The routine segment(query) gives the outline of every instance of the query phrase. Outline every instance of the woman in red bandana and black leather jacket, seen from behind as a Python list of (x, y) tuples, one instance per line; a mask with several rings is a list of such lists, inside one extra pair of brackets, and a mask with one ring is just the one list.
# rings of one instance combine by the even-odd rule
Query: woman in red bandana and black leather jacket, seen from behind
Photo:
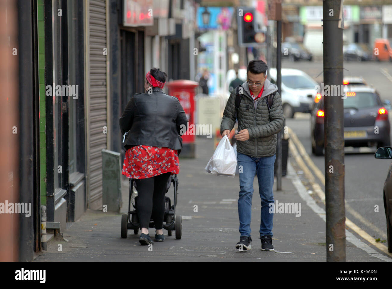
[(147, 72), (147, 92), (132, 96), (120, 117), (122, 134), (128, 132), (122, 174), (134, 179), (138, 189), (136, 211), (142, 245), (153, 244), (148, 231), (151, 218), (155, 241), (165, 240), (162, 228), (167, 182), (170, 175), (180, 171), (180, 130), (187, 123), (178, 99), (162, 91), (166, 79), (167, 74), (159, 69)]

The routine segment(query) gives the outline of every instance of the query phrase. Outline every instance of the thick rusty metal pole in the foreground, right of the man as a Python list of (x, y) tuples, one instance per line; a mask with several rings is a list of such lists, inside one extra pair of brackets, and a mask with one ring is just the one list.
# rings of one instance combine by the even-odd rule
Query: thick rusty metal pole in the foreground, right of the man
[[(341, 91), (335, 89), (331, 91), (330, 96), (324, 96), (327, 262), (346, 261), (343, 30), (338, 27), (341, 8), (341, 0), (323, 2), (324, 87), (338, 85), (341, 88)], [(337, 91), (340, 93), (335, 95)]]

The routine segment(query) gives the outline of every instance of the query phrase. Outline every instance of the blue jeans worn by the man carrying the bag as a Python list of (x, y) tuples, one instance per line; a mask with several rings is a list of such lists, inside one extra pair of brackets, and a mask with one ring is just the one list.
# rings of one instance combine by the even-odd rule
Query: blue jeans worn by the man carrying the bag
[[(274, 163), (275, 155), (270, 157), (250, 157), (237, 154), (240, 175), (240, 197), (238, 198), (238, 216), (240, 218), (241, 236), (250, 236), (250, 219), (252, 215), (253, 180), (257, 175), (261, 198), (260, 237), (272, 236), (273, 213), (269, 213), (270, 203), (274, 202)], [(242, 166), (242, 167), (241, 167)], [(242, 172), (241, 172), (242, 171)]]

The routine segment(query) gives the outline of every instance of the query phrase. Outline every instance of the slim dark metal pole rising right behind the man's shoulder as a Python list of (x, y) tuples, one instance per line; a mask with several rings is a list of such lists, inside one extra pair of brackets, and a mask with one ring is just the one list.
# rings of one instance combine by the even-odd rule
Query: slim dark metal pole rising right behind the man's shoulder
[[(278, 93), (281, 94), (281, 37), (282, 37), (282, 21), (276, 21), (276, 85)], [(282, 131), (276, 135), (276, 161), (278, 162), (278, 170), (276, 172), (276, 190), (282, 190)]]

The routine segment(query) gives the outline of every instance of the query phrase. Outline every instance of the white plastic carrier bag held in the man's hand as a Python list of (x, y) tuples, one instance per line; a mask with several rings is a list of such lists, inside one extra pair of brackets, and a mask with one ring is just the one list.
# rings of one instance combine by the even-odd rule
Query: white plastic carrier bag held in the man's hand
[(236, 175), (236, 167), (236, 153), (230, 144), (229, 138), (225, 135), (207, 163), (205, 171), (214, 175), (234, 177)]

